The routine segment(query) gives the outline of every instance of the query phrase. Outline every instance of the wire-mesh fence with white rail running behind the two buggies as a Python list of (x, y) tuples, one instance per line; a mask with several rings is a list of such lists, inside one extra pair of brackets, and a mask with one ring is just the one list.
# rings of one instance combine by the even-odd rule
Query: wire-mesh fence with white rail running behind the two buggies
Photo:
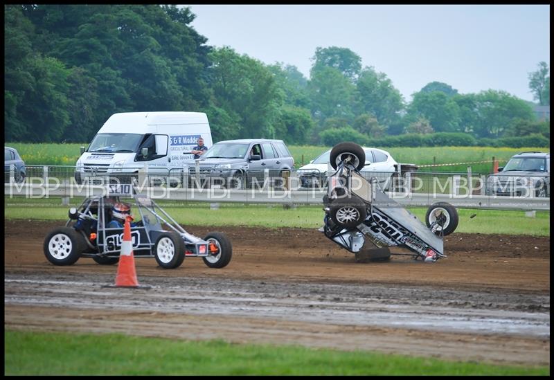
[[(85, 179), (75, 175), (73, 166), (27, 165), (26, 178), (22, 183), (18, 183), (11, 168), (9, 172), (5, 172), (4, 195), (28, 198), (62, 197), (66, 203), (70, 198), (101, 194), (105, 191), (106, 183), (116, 181), (136, 183), (139, 193), (147, 194), (154, 199), (322, 204), (327, 181), (325, 172), (318, 170), (248, 170), (238, 174), (229, 170), (204, 173), (198, 168), (140, 168), (141, 170), (136, 173), (88, 172)], [(460, 208), (550, 210), (550, 198), (537, 197), (539, 192), (535, 188), (536, 182), (522, 183), (509, 174), (503, 174), (501, 182), (492, 182), (491, 179), (496, 177), (490, 177), (488, 174), (471, 172), (362, 174), (367, 179), (375, 177), (388, 196), (402, 206), (426, 207), (438, 201), (447, 201)], [(544, 179), (548, 179), (549, 194), (550, 179)], [(502, 186), (504, 196), (491, 192), (493, 186)], [(507, 193), (513, 196), (506, 196)]]

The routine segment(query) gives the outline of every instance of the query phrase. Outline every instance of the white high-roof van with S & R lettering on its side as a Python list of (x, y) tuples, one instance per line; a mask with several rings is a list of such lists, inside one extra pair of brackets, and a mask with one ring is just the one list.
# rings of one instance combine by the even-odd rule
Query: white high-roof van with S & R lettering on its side
[[(125, 178), (134, 173), (168, 175), (193, 159), (199, 137), (212, 145), (208, 117), (202, 112), (124, 112), (111, 115), (75, 165), (75, 181), (91, 177)], [(176, 171), (174, 171), (176, 172)]]

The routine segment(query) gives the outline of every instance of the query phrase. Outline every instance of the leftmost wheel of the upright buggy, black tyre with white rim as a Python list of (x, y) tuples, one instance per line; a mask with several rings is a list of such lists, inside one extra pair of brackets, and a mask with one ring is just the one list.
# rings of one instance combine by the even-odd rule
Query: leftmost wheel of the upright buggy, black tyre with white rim
[(44, 239), (44, 255), (54, 265), (75, 264), (81, 255), (82, 237), (71, 227), (58, 227)]

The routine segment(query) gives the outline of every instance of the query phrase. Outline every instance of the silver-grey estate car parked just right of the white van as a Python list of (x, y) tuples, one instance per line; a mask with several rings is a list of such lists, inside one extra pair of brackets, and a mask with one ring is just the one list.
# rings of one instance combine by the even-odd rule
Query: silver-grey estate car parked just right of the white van
[(241, 188), (251, 186), (255, 179), (261, 184), (268, 176), (280, 177), (283, 170), (294, 167), (294, 159), (282, 140), (243, 139), (215, 143), (200, 159), (186, 165), (191, 178)]

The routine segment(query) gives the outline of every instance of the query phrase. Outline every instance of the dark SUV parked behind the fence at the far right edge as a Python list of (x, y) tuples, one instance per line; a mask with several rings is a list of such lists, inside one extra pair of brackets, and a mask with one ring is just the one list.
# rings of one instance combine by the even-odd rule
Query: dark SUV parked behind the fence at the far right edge
[(487, 179), (487, 194), (550, 197), (550, 153), (521, 152), (498, 169)]

